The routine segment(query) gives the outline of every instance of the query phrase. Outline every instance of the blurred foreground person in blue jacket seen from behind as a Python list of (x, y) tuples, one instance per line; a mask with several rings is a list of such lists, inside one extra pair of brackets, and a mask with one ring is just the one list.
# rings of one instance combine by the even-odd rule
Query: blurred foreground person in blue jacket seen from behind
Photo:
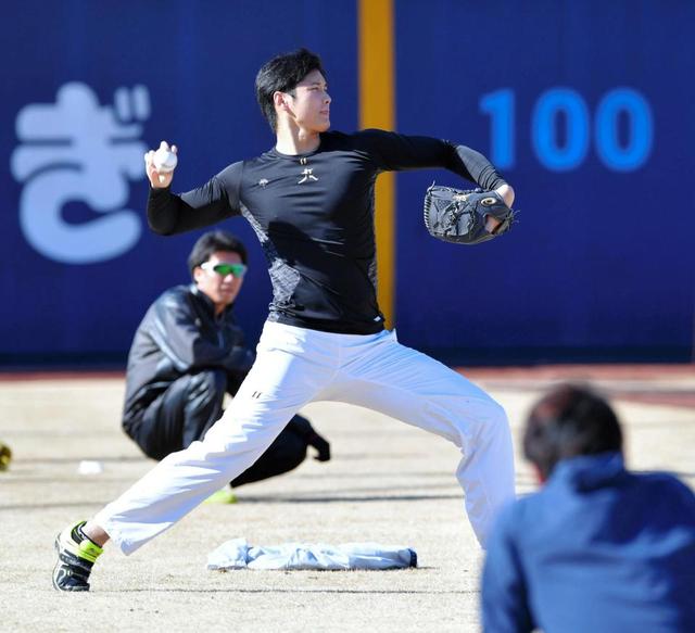
[(626, 469), (610, 405), (556, 387), (531, 409), (523, 453), (544, 485), (492, 530), (484, 631), (695, 631), (695, 495)]

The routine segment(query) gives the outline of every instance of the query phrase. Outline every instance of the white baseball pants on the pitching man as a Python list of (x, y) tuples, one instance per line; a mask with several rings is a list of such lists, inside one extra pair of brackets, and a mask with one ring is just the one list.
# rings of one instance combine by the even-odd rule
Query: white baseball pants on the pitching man
[(249, 468), (312, 401), (361, 405), (453, 442), (468, 518), (484, 546), (495, 511), (514, 497), (504, 409), (394, 332), (334, 334), (269, 321), (253, 368), (203, 440), (160, 461), (96, 523), (124, 554), (135, 552)]

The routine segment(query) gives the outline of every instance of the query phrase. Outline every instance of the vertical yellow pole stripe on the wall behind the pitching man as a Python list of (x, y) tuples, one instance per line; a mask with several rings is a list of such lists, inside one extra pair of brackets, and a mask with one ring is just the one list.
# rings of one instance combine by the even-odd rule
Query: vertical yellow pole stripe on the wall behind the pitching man
[[(393, 0), (358, 0), (359, 127), (395, 127), (393, 64)], [(395, 178), (382, 174), (376, 188), (377, 297), (395, 322)]]

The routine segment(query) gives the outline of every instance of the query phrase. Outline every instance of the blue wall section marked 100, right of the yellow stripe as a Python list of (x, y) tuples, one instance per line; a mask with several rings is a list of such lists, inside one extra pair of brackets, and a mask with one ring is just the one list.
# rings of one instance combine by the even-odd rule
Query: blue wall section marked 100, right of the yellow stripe
[(522, 211), (511, 233), (462, 252), (421, 230), (419, 198), (432, 175), (401, 177), (402, 338), (491, 360), (688, 357), (695, 5), (397, 7), (399, 128), (488, 155), (497, 143)]

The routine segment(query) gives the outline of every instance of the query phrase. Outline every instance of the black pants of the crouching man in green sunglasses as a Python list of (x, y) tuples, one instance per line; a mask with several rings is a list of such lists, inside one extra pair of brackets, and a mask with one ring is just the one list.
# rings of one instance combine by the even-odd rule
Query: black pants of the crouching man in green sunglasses
[[(202, 440), (222, 416), (226, 391), (227, 374), (223, 370), (182, 376), (152, 402), (141, 422), (127, 432), (148, 457), (164, 459), (169, 453), (182, 451), (192, 442)], [(299, 420), (293, 422), (308, 423), (301, 416), (295, 418)], [(307, 441), (305, 434), (296, 432), (298, 426), (288, 425), (256, 463), (237, 477), (231, 485), (237, 488), (268, 479), (302, 464), (306, 457)]]

